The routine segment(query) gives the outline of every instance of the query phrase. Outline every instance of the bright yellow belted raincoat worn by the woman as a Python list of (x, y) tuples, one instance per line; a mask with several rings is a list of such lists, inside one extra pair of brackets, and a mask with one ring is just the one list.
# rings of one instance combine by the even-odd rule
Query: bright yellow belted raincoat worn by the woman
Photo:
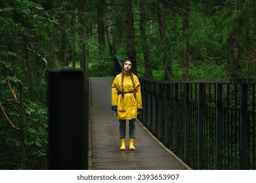
[(131, 76), (123, 78), (123, 97), (121, 94), (121, 74), (117, 75), (112, 83), (112, 110), (116, 110), (116, 118), (131, 120), (137, 118), (137, 112), (142, 110), (142, 99), (140, 93), (140, 82), (136, 75), (133, 75), (135, 88)]

